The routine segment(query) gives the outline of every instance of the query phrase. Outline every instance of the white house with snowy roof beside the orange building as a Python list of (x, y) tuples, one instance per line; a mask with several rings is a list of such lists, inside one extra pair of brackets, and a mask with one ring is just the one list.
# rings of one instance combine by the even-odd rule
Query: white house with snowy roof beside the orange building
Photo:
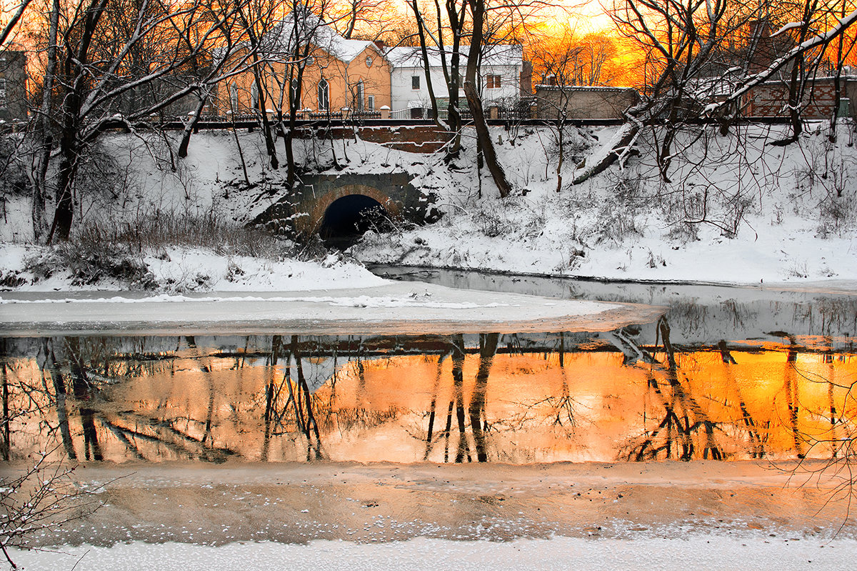
[[(459, 73), (463, 77), (470, 47), (462, 45), (458, 51), (461, 54)], [(423, 117), (423, 110), (431, 109), (431, 99), (428, 96), (422, 51), (419, 47), (397, 47), (390, 48), (385, 55), (393, 66), (391, 78), (393, 113), (411, 110), (409, 117)], [(446, 61), (448, 65), (449, 54), (446, 56)], [(440, 52), (436, 48), (428, 51), (428, 62), (439, 111), (445, 112), (449, 92), (443, 75)], [(524, 87), (522, 75), (524, 75), (524, 49), (520, 45), (490, 46), (488, 52), (482, 55), (480, 66), (479, 88), (483, 105), (488, 107), (494, 103), (508, 104), (517, 100)], [(523, 79), (529, 83), (528, 77)], [(529, 93), (528, 86), (524, 93)], [(464, 99), (464, 91), (460, 92), (460, 97), (460, 105), (465, 108), (467, 101)]]

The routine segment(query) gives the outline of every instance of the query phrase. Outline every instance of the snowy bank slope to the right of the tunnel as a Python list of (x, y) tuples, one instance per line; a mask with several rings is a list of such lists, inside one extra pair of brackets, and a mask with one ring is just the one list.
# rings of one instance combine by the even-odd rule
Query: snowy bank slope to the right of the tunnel
[[(567, 151), (564, 180), (575, 162), (600, 152), (599, 141), (609, 141), (613, 129), (570, 133), (577, 150)], [(781, 135), (777, 129), (680, 136), (686, 148), (674, 147), (668, 183), (644, 140), (641, 157), (625, 170), (614, 166), (559, 193), (556, 159), (546, 159), (555, 153), (551, 132), (519, 129), (510, 139), (495, 129), (500, 160), (521, 195), (498, 198), (483, 171), (480, 198), (468, 154), (458, 161), (464, 171), (437, 168), (421, 178), (440, 195), (439, 223), (393, 237), (369, 234), (353, 254), (381, 263), (605, 279), (857, 278), (853, 134), (841, 129), (832, 145), (825, 129), (810, 129), (798, 144), (766, 146)], [(698, 141), (688, 141), (695, 135)]]

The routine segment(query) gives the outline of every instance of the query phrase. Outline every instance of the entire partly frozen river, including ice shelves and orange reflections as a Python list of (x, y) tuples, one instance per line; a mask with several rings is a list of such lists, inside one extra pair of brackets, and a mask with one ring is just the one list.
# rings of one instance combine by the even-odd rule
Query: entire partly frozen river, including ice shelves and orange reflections
[[(9, 471), (51, 451), (106, 504), (34, 544), (93, 549), (101, 568), (248, 557), (423, 568), (427, 554), (465, 551), (482, 554), (473, 568), (682, 557), (847, 568), (854, 528), (827, 476), (847, 466), (857, 415), (854, 295), (388, 273), (482, 293), (430, 290), (434, 307), (406, 283), (382, 302), (304, 293), (330, 316), (303, 328), (288, 296), (267, 300), (278, 327), (265, 300), (239, 295), (226, 303), (264, 318), (215, 331), (170, 330), (186, 304), (217, 305), (172, 299), (159, 306), (172, 321), (120, 316), (111, 334), (97, 319), (63, 330), (51, 309), (109, 304), (91, 296), (0, 305), (45, 316), (2, 340)], [(554, 317), (538, 321), (538, 307)], [(337, 312), (378, 308), (387, 323), (414, 310), (446, 321), (348, 331), (343, 313), (337, 325)], [(456, 325), (453, 309), (473, 318)], [(490, 321), (504, 310), (509, 322)], [(69, 561), (16, 555), (33, 568)]]

